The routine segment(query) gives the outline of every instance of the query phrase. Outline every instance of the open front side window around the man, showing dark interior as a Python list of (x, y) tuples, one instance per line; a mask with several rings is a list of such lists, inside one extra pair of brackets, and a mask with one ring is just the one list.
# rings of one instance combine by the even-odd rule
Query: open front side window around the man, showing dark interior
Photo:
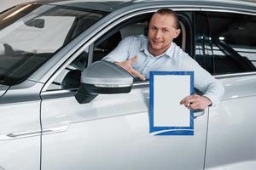
[[(79, 81), (81, 72), (93, 62), (101, 60), (104, 56), (110, 53), (117, 47), (119, 42), (125, 37), (143, 34), (148, 35), (148, 22), (152, 13), (141, 14), (129, 20), (125, 20), (111, 30), (106, 32), (102, 37), (98, 38), (96, 42), (90, 44), (90, 50), (87, 48), (79, 57), (75, 59), (70, 65), (67, 66), (54, 82), (51, 83), (48, 90), (56, 89), (75, 89), (79, 88)], [(183, 17), (183, 16), (179, 16)], [(183, 18), (180, 20), (181, 34), (174, 42), (183, 48), (184, 51), (190, 54), (190, 32), (188, 23), (185, 23)], [(135, 81), (139, 82), (138, 79)]]

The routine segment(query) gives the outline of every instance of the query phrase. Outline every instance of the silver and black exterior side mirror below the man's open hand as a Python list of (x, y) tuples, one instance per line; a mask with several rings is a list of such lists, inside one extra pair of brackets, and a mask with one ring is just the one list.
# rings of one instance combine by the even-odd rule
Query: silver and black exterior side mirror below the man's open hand
[(88, 103), (97, 94), (125, 94), (131, 91), (133, 77), (125, 69), (108, 61), (96, 61), (81, 75), (81, 84), (75, 98)]

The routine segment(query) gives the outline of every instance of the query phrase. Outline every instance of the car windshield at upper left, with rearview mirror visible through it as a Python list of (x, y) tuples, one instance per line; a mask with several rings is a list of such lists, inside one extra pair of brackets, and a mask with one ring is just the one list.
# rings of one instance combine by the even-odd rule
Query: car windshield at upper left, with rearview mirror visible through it
[(21, 5), (0, 14), (0, 83), (15, 85), (26, 80), (105, 14), (40, 4)]

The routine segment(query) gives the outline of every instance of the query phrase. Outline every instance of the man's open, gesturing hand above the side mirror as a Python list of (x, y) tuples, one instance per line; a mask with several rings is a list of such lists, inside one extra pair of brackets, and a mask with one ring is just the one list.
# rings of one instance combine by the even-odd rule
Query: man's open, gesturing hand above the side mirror
[(119, 65), (120, 67), (124, 68), (126, 71), (128, 71), (132, 76), (135, 77), (139, 77), (141, 80), (145, 81), (146, 78), (143, 77), (143, 75), (141, 73), (139, 73), (138, 71), (134, 70), (132, 68), (132, 64), (135, 63), (137, 61), (137, 56), (128, 59), (126, 61), (123, 62), (114, 62), (116, 65)]

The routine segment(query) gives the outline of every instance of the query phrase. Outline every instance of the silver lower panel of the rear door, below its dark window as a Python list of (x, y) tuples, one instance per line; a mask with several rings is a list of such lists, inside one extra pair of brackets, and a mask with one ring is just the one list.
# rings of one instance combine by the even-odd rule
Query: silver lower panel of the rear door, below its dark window
[(224, 100), (209, 111), (206, 169), (256, 167), (256, 76), (222, 80)]

